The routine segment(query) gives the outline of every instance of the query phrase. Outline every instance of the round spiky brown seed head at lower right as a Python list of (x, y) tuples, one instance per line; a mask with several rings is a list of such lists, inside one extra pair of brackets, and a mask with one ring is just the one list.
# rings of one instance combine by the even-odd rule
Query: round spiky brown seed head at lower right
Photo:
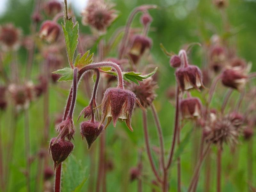
[(232, 145), (237, 142), (240, 133), (241, 126), (233, 124), (229, 116), (219, 117), (210, 125), (206, 141), (220, 146), (224, 142)]

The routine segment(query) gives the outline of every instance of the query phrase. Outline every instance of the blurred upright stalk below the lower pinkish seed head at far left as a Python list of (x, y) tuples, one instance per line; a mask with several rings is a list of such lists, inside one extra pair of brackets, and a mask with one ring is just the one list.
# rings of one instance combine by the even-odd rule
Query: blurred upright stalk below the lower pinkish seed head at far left
[(25, 109), (25, 157), (26, 157), (26, 178), (27, 178), (27, 190), (30, 191), (30, 138), (29, 138), (29, 114), (28, 109)]

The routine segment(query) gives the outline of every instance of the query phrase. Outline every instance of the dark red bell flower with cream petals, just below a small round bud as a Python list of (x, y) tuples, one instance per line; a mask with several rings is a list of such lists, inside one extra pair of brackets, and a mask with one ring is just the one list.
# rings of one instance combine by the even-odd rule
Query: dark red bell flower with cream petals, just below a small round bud
[(186, 91), (195, 88), (200, 91), (200, 87), (204, 87), (203, 76), (201, 70), (195, 65), (180, 67), (175, 72), (180, 91)]

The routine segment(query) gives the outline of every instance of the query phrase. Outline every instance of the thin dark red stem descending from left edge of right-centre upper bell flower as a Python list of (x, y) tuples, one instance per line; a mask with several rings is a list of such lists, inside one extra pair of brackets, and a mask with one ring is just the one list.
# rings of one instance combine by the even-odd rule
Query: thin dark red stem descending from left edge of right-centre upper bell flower
[(176, 88), (176, 112), (175, 112), (175, 127), (174, 127), (174, 131), (173, 131), (173, 138), (172, 138), (172, 147), (171, 147), (171, 151), (170, 151), (170, 156), (169, 156), (169, 160), (168, 160), (168, 164), (166, 166), (166, 169), (169, 169), (169, 167), (172, 164), (172, 157), (173, 157), (173, 153), (174, 153), (174, 148), (175, 148), (175, 143), (176, 143), (176, 135), (177, 135), (177, 131), (179, 128), (179, 114), (180, 114), (180, 101), (179, 101), (179, 86), (177, 86)]

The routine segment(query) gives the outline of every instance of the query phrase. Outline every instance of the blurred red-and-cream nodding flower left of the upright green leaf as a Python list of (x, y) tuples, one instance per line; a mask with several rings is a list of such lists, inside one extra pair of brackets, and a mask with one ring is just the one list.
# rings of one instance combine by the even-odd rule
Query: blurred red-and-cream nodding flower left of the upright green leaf
[(42, 23), (39, 37), (48, 43), (52, 43), (57, 40), (60, 35), (60, 26), (58, 23), (46, 20)]

